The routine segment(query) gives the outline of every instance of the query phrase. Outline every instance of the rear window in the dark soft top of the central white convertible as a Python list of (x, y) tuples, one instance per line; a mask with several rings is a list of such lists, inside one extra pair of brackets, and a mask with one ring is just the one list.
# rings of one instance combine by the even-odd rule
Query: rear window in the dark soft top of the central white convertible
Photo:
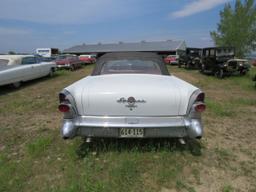
[(157, 63), (144, 60), (116, 60), (103, 64), (101, 74), (118, 73), (161, 74), (161, 70)]

